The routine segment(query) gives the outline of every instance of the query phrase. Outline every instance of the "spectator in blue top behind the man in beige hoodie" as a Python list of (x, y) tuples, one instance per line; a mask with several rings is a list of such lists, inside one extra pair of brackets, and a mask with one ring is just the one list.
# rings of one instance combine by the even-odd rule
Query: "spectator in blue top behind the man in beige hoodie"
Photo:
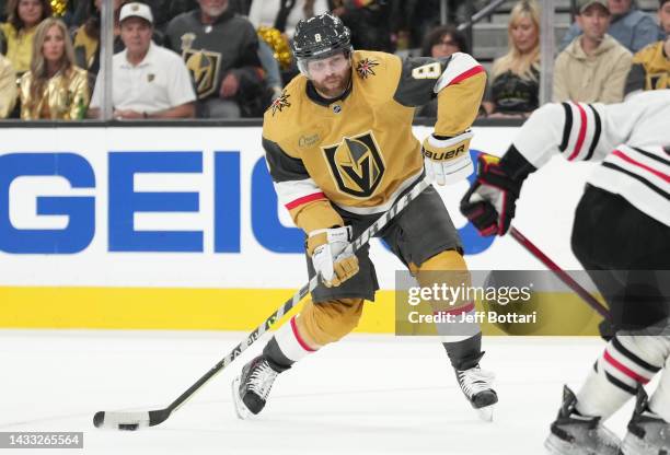
[[(660, 39), (660, 31), (654, 19), (634, 8), (633, 0), (608, 0), (608, 7), (612, 14), (608, 34), (632, 54)], [(579, 21), (570, 25), (561, 42), (561, 49), (565, 49), (581, 35), (582, 30)]]

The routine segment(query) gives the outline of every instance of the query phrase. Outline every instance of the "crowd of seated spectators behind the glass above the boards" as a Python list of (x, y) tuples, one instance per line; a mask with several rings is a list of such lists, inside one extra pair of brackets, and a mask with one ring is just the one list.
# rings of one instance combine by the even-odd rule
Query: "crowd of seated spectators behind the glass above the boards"
[[(349, 26), (355, 49), (472, 54), (488, 73), (482, 117), (523, 118), (540, 104), (541, 1), (105, 1), (117, 119), (262, 117), (298, 74), (296, 24), (326, 11)], [(670, 88), (670, 0), (553, 3), (552, 101), (616, 103)], [(0, 0), (0, 118), (100, 116), (101, 9), (102, 0)]]

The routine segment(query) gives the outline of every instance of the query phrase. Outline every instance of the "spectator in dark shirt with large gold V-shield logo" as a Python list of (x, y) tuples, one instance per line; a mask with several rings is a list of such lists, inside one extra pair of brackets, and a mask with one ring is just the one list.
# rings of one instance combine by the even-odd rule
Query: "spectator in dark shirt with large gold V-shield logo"
[(193, 72), (198, 117), (259, 116), (272, 93), (258, 60), (254, 26), (228, 7), (228, 0), (198, 0), (199, 9), (180, 14), (168, 26), (168, 45)]

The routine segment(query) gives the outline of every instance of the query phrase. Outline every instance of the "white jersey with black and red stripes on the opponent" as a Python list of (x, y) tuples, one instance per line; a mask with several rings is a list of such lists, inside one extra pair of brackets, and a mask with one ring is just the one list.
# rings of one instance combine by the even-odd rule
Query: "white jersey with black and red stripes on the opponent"
[(621, 195), (670, 226), (670, 90), (624, 103), (552, 103), (535, 110), (513, 140), (535, 167), (553, 155), (596, 161), (588, 183)]

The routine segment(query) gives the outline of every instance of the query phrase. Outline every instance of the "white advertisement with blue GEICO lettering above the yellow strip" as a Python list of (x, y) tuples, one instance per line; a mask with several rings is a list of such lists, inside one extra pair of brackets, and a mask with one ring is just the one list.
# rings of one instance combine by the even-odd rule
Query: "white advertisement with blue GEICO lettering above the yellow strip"
[[(515, 130), (475, 128), (473, 151), (501, 154)], [(517, 209), (515, 225), (565, 268), (578, 267), (569, 230), (588, 171), (553, 160)], [(470, 267), (542, 269), (465, 222), (467, 185), (439, 190)], [(2, 130), (0, 285), (290, 288), (307, 277), (303, 242), (277, 202), (259, 127)], [(379, 240), (370, 254), (393, 288), (401, 262)]]

